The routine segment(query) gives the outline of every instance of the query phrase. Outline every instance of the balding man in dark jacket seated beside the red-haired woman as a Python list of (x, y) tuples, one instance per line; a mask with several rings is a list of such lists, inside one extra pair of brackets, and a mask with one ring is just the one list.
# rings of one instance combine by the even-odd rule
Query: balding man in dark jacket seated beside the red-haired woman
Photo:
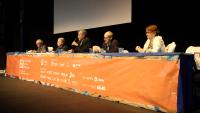
[[(100, 47), (93, 46), (94, 52), (101, 52)], [(107, 31), (104, 34), (104, 42), (102, 44), (102, 49), (108, 53), (118, 52), (119, 43), (116, 39), (113, 39), (113, 33), (111, 31)]]

